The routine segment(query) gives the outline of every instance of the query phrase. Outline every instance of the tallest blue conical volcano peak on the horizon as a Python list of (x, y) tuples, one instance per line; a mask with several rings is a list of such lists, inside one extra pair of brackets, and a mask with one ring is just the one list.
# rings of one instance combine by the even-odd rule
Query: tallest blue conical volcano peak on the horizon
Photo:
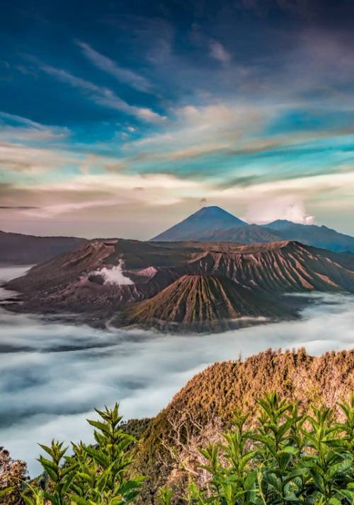
[(198, 233), (201, 231), (231, 228), (232, 226), (246, 226), (246, 223), (220, 207), (203, 207), (151, 240), (166, 242), (198, 240)]

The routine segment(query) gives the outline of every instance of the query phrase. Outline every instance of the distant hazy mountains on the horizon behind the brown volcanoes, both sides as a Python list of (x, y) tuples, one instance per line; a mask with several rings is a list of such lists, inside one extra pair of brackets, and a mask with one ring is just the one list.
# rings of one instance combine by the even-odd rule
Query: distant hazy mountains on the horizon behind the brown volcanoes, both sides
[[(152, 241), (206, 241), (239, 244), (297, 240), (338, 253), (354, 253), (354, 237), (326, 226), (278, 220), (265, 225), (248, 224), (220, 207), (203, 207), (151, 239)], [(88, 242), (75, 237), (38, 237), (0, 231), (0, 265), (31, 265)]]

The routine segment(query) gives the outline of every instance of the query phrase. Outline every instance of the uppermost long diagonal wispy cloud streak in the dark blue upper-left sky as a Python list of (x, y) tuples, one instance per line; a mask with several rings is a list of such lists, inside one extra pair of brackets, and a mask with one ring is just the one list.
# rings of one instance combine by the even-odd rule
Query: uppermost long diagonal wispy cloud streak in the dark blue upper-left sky
[(104, 54), (101, 54), (93, 49), (89, 44), (85, 42), (76, 41), (76, 44), (81, 48), (82, 52), (87, 59), (90, 60), (98, 69), (101, 69), (107, 74), (114, 76), (118, 81), (124, 82), (132, 86), (132, 88), (137, 89), (137, 91), (144, 91), (149, 93), (152, 90), (152, 84), (143, 76), (136, 74), (130, 69), (125, 69), (122, 66), (118, 66), (113, 59), (108, 58)]

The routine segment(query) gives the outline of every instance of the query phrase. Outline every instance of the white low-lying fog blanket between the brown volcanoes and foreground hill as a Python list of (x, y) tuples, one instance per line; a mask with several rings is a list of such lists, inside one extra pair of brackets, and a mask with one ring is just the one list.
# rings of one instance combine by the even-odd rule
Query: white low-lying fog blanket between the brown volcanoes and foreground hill
[[(25, 269), (0, 269), (1, 281)], [(4, 297), (4, 290), (2, 296)], [(0, 293), (1, 296), (1, 293)], [(7, 295), (8, 296), (8, 295)], [(354, 297), (314, 296), (297, 322), (176, 336), (103, 331), (0, 308), (0, 446), (40, 471), (36, 442), (90, 441), (93, 407), (119, 401), (125, 419), (153, 416), (207, 364), (273, 347), (311, 354), (354, 347)]]

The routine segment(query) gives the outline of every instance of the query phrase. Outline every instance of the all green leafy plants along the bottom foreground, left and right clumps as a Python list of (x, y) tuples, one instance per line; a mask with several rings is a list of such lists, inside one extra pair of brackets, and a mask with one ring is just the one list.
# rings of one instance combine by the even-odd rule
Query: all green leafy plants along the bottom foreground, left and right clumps
[[(185, 489), (161, 487), (160, 504), (353, 505), (354, 395), (336, 407), (303, 412), (299, 403), (280, 400), (277, 393), (265, 395), (256, 412), (236, 412), (222, 439), (200, 448), (201, 476), (190, 473)], [(41, 446), (44, 486), (40, 480), (29, 484), (14, 474), (5, 476), (0, 460), (1, 503), (150, 503), (142, 493), (144, 477), (130, 476), (135, 439), (122, 426), (118, 405), (96, 412), (100, 420), (89, 420), (94, 445), (72, 444), (72, 455), (59, 442)], [(6, 465), (11, 473), (8, 453)]]

